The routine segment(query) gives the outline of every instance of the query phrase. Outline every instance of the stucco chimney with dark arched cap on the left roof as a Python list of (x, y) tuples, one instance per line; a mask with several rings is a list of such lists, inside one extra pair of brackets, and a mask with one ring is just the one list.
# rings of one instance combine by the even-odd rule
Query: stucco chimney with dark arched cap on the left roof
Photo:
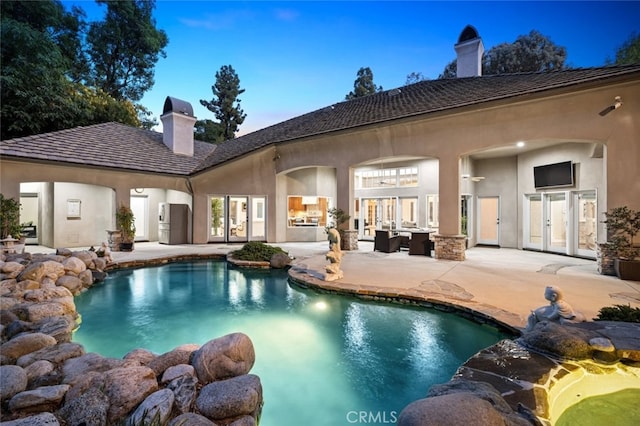
[(175, 154), (193, 157), (193, 116), (191, 104), (167, 96), (162, 110), (162, 141)]

